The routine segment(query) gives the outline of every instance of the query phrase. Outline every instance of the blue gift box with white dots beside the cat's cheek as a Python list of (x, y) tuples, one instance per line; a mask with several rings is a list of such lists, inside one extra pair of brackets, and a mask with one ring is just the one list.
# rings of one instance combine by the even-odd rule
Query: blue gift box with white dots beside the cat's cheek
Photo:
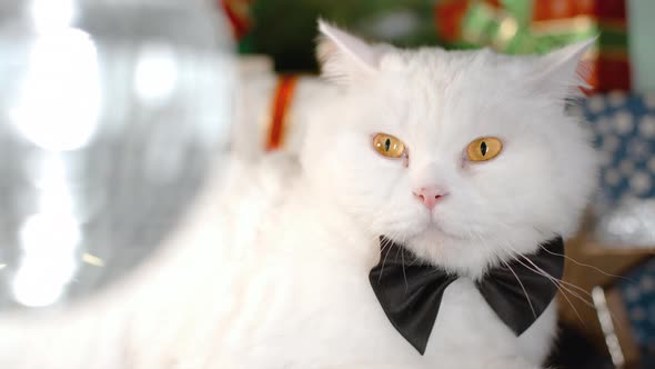
[(572, 113), (590, 122), (601, 158), (595, 238), (655, 248), (655, 93), (595, 94)]

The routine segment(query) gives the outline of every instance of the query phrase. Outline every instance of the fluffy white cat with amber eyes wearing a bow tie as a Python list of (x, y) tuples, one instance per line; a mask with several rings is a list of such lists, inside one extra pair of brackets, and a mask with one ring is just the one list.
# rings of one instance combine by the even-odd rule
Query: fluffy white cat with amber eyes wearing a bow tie
[[(595, 156), (564, 104), (588, 42), (508, 57), (320, 29), (334, 88), (300, 163), (235, 161), (226, 186), (219, 169), (185, 228), (137, 273), (72, 311), (0, 322), (0, 368), (542, 367), (555, 302), (516, 337), (474, 280), (577, 227)], [(461, 276), (424, 355), (369, 281), (380, 236)]]

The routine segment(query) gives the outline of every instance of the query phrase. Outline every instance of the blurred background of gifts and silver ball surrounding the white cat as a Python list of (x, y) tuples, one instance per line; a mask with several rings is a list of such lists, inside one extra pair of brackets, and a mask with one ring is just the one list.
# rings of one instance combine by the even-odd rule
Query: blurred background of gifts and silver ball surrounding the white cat
[(298, 152), (322, 96), (319, 17), (401, 47), (598, 36), (568, 109), (594, 133), (599, 191), (567, 242), (552, 361), (655, 368), (651, 0), (0, 2), (0, 309), (57, 308), (138, 266), (221, 154)]

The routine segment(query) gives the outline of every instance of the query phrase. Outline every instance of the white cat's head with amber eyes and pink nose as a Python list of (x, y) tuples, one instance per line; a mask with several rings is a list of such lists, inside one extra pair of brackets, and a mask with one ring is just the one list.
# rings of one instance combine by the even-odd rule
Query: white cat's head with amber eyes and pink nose
[(477, 276), (575, 230), (595, 157), (557, 73), (575, 81), (577, 56), (399, 51), (326, 31), (344, 91), (316, 112), (304, 167), (366, 231)]

